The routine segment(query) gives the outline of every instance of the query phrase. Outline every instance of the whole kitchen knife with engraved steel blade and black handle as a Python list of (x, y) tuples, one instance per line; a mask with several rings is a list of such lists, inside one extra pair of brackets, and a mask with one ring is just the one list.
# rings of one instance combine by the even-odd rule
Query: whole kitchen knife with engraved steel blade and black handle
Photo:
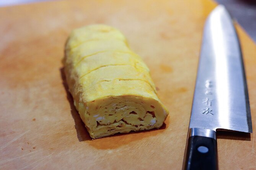
[(253, 132), (240, 44), (222, 5), (204, 26), (183, 169), (218, 169), (216, 130)]

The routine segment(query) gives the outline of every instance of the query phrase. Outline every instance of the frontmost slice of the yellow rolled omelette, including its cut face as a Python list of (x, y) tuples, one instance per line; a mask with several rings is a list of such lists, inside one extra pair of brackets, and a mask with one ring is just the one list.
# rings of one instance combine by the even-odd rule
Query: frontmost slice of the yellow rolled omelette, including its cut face
[(92, 138), (160, 128), (168, 115), (143, 80), (102, 81), (83, 91), (81, 98), (87, 102), (77, 99), (75, 106)]

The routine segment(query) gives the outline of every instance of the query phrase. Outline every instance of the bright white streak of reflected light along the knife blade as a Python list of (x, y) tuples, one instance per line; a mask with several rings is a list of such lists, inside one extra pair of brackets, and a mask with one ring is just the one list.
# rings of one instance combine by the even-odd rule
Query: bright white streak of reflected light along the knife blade
[[(224, 10), (224, 9), (222, 9)], [(211, 36), (212, 36), (212, 47), (215, 54), (215, 74), (216, 74), (216, 98), (217, 105), (218, 105), (218, 112), (228, 113), (230, 110), (230, 94), (228, 88), (230, 87), (228, 81), (228, 71), (227, 65), (227, 57), (228, 54), (226, 45), (225, 45), (225, 35), (223, 35), (223, 28), (221, 21), (221, 16), (218, 14), (213, 14), (210, 16), (210, 29), (211, 29)], [(224, 17), (224, 16), (222, 16)], [(230, 129), (229, 125), (229, 114), (222, 114), (218, 117), (219, 123), (227, 128)]]

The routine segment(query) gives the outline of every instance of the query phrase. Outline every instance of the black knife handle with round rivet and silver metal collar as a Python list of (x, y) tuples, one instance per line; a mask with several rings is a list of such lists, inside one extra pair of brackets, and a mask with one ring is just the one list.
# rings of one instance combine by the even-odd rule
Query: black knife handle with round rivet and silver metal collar
[[(197, 131), (199, 128), (196, 128)], [(206, 129), (199, 129), (205, 131)], [(191, 130), (190, 130), (191, 131)], [(214, 135), (209, 135), (213, 133)], [(216, 132), (189, 133), (184, 155), (184, 170), (217, 170), (217, 141)], [(200, 135), (200, 136), (198, 136)]]

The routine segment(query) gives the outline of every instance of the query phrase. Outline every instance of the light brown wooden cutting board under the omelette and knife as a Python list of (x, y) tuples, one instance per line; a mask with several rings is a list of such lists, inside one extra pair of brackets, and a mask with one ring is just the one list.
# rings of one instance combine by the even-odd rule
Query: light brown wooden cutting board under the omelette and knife
[[(181, 169), (209, 0), (77, 0), (0, 8), (1, 169)], [(61, 59), (74, 28), (120, 29), (170, 110), (159, 130), (91, 140), (67, 91)], [(251, 135), (218, 132), (220, 169), (256, 168), (256, 45), (237, 26)]]

